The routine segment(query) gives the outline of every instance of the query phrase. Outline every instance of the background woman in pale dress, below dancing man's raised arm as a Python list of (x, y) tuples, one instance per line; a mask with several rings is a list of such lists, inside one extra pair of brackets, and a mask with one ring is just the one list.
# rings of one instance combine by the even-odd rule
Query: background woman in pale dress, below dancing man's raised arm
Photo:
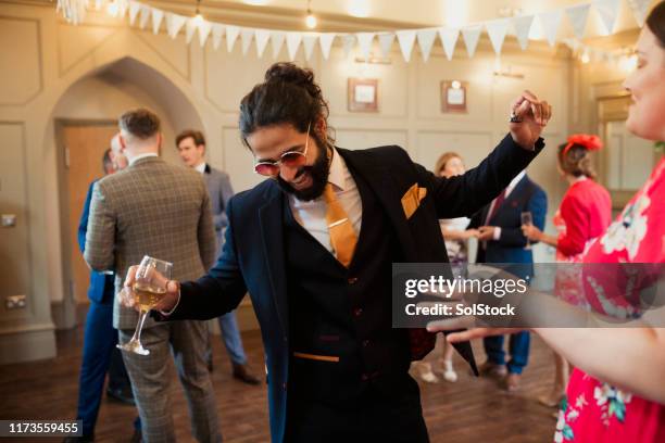
[[(464, 161), (456, 152), (446, 152), (442, 154), (434, 169), (435, 174), (440, 177), (454, 177), (461, 176), (466, 172), (464, 167)], [(441, 226), (441, 233), (446, 241), (446, 250), (448, 251), (448, 260), (452, 265), (453, 273), (460, 269), (460, 266), (468, 262), (467, 256), (467, 243), (468, 239), (478, 236), (477, 229), (466, 229), (470, 219), (468, 217), (457, 218), (441, 218), (439, 225)], [(440, 358), (440, 366), (443, 368), (443, 379), (454, 383), (457, 381), (457, 374), (452, 364), (452, 354), (454, 349), (446, 341), (437, 339), (437, 345), (435, 347), (443, 346), (443, 357)], [(432, 352), (431, 354), (435, 354)], [(430, 354), (430, 355), (431, 355)], [(429, 357), (428, 357), (429, 358)], [(438, 377), (432, 371), (431, 363), (427, 360), (414, 362), (413, 368), (418, 377), (428, 383), (436, 383), (439, 381)]]

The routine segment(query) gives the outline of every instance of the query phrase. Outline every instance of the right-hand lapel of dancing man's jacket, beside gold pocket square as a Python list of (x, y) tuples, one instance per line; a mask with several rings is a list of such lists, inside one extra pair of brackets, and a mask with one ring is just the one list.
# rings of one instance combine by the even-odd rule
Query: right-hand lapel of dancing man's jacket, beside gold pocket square
[[(390, 175), (388, 168), (379, 166), (376, 163), (366, 162), (363, 155), (356, 155), (353, 151), (341, 148), (336, 149), (342, 159), (344, 159), (347, 165), (349, 165), (351, 174), (360, 174), (381, 202), (400, 239), (400, 244), (404, 252), (404, 261), (417, 262), (417, 251), (415, 250), (413, 237), (406, 224), (406, 217), (404, 216), (404, 210), (401, 204), (401, 195), (398, 192), (394, 179)], [(365, 216), (366, 215), (363, 214), (363, 224)]]

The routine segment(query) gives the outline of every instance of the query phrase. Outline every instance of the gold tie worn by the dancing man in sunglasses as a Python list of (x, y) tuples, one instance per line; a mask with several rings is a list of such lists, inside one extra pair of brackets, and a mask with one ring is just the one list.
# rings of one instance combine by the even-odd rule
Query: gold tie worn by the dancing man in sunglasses
[(324, 200), (328, 206), (326, 208), (326, 221), (328, 223), (330, 243), (335, 250), (335, 256), (344, 267), (349, 267), (357, 243), (353, 224), (351, 224), (349, 215), (337, 200), (331, 183), (326, 185)]

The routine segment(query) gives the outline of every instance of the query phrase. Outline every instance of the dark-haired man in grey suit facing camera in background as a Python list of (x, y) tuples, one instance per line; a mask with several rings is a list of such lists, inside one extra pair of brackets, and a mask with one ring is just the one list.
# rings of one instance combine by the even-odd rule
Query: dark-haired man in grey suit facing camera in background
[[(234, 195), (234, 189), (230, 185), (228, 174), (211, 167), (205, 163), (205, 138), (199, 130), (187, 129), (181, 131), (176, 137), (176, 148), (183, 163), (192, 169), (198, 170), (205, 181), (210, 202), (213, 212), (213, 224), (215, 225), (215, 235), (217, 238), (217, 256), (222, 252), (224, 245), (224, 230), (228, 226), (226, 217), (226, 205), (228, 200)], [(217, 317), (219, 330), (222, 331), (222, 340), (226, 346), (226, 352), (231, 360), (231, 370), (234, 378), (243, 381), (248, 384), (259, 384), (261, 381), (252, 375), (247, 364), (247, 356), (242, 347), (242, 338), (238, 329), (236, 320), (236, 312), (224, 314)], [(210, 341), (205, 355), (208, 367), (212, 370), (212, 347)]]

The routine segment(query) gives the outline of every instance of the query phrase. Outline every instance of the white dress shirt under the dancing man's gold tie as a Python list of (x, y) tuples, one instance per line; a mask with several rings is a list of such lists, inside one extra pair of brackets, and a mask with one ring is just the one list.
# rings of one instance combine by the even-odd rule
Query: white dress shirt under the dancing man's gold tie
[[(330, 163), (328, 182), (332, 183), (337, 200), (339, 200), (341, 206), (347, 212), (355, 235), (360, 236), (363, 220), (361, 195), (344, 160), (335, 148), (332, 148), (332, 162)], [(298, 200), (296, 195), (289, 194), (289, 206), (293, 213), (293, 218), (296, 218), (300, 226), (332, 253), (328, 223), (326, 221), (326, 201), (323, 195), (312, 201), (303, 202)]]

